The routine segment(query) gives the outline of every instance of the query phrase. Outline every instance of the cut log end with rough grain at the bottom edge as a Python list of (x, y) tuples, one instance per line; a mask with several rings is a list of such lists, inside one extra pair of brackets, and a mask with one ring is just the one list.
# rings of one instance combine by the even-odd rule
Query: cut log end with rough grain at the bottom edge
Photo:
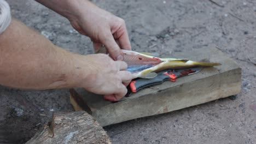
[(100, 124), (85, 111), (58, 113), (26, 144), (107, 143), (110, 139)]

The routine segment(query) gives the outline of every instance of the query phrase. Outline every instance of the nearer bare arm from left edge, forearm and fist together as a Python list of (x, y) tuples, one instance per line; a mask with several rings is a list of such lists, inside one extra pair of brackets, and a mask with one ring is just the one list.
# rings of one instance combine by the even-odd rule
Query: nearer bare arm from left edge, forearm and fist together
[[(106, 67), (108, 65), (108, 67)], [(78, 55), (53, 45), (16, 20), (0, 35), (0, 85), (24, 89), (83, 87), (122, 98), (132, 79), (127, 64), (103, 54)]]

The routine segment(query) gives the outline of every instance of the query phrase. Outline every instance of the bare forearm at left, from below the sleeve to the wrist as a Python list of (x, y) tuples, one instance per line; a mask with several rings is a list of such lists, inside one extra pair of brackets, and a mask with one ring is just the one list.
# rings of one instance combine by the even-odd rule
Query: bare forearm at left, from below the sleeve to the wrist
[(79, 77), (86, 75), (79, 57), (83, 56), (53, 45), (13, 19), (0, 35), (0, 85), (26, 89), (76, 87)]

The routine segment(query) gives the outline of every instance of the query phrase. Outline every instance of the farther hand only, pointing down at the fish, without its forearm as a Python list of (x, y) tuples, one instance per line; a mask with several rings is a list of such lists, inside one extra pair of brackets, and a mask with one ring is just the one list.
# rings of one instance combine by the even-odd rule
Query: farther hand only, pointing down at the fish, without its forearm
[(102, 44), (115, 60), (123, 60), (121, 49), (131, 50), (125, 21), (94, 4), (82, 1), (78, 4), (78, 17), (70, 17), (71, 25), (94, 42), (97, 51)]

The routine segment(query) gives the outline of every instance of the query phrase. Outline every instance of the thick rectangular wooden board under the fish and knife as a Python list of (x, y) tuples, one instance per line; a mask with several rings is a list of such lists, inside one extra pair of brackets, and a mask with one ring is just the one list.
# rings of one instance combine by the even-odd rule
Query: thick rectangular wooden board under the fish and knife
[[(162, 85), (143, 89), (118, 103), (110, 103), (104, 100), (102, 95), (88, 93), (84, 89), (76, 89), (86, 105), (81, 107), (89, 107), (92, 116), (102, 126), (106, 126), (130, 119), (159, 115), (240, 93), (241, 68), (214, 46), (174, 54), (166, 57), (189, 58), (193, 61), (208, 59), (210, 62), (219, 62), (222, 65), (204, 68), (200, 73), (181, 77), (176, 82), (167, 81)], [(74, 106), (75, 97), (71, 97)], [(79, 101), (81, 103), (81, 100)]]

